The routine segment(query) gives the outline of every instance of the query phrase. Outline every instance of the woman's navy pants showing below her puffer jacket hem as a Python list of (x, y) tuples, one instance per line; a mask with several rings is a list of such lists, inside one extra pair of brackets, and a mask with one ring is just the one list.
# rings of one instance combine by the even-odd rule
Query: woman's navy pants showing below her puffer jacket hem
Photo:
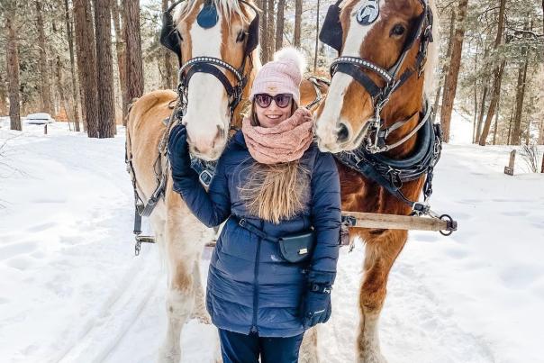
[(223, 363), (296, 363), (303, 334), (289, 338), (264, 338), (219, 330)]

